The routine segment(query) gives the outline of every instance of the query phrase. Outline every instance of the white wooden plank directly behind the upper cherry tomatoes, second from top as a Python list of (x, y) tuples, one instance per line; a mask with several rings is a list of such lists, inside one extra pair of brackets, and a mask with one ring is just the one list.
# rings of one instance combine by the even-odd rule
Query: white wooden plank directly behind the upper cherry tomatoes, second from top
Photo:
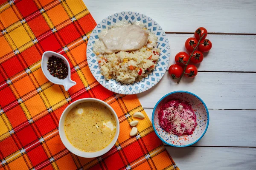
[[(171, 57), (180, 51), (186, 51), (185, 41), (194, 34), (166, 34), (169, 39)], [(256, 71), (256, 35), (216, 35), (207, 36), (212, 42), (211, 51), (204, 53), (204, 60), (198, 66), (199, 71)]]

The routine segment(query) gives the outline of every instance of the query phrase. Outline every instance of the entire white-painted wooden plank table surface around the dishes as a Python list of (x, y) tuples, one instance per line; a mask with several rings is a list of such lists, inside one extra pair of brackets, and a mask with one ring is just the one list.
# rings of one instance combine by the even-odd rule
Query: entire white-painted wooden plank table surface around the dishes
[(196, 28), (208, 30), (212, 50), (195, 79), (176, 84), (168, 74), (138, 97), (151, 117), (172, 91), (200, 96), (209, 108), (205, 136), (191, 147), (166, 146), (181, 170), (256, 170), (256, 0), (84, 0), (99, 23), (119, 11), (152, 17), (166, 31), (175, 54)]

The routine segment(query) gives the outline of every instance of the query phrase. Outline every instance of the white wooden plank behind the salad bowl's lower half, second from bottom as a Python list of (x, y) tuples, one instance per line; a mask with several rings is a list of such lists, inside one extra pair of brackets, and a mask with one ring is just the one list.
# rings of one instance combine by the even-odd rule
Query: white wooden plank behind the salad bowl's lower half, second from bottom
[[(151, 120), (153, 109), (145, 109)], [(194, 146), (256, 147), (256, 111), (209, 110), (207, 133)]]

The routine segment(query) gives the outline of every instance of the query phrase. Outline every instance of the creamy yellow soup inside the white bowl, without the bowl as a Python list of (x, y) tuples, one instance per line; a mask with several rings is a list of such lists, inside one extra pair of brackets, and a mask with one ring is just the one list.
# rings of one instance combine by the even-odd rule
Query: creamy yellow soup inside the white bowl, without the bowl
[(65, 133), (73, 146), (95, 152), (108, 146), (116, 133), (116, 120), (111, 111), (97, 102), (76, 105), (65, 120)]

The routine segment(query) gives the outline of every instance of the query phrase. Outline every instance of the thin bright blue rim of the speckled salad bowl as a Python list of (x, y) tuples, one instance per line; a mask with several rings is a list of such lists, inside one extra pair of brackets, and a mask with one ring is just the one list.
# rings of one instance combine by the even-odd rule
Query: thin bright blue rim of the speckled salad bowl
[[(165, 142), (165, 141), (158, 135), (157, 130), (156, 130), (155, 126), (154, 126), (154, 112), (155, 112), (155, 110), (156, 110), (156, 108), (157, 108), (157, 105), (158, 105), (164, 98), (166, 98), (166, 97), (169, 96), (170, 94), (175, 94), (175, 93), (187, 93), (187, 94), (191, 94), (191, 95), (197, 97), (197, 98), (203, 103), (204, 108), (206, 109), (206, 112), (207, 112), (207, 125), (206, 125), (206, 127), (205, 127), (204, 133), (203, 133), (203, 134), (200, 136), (200, 138), (198, 138), (195, 142), (193, 142), (193, 143), (191, 143), (191, 144), (182, 145), (182, 146), (174, 145), (174, 144), (169, 144), (169, 143)], [(164, 142), (165, 144), (168, 144), (168, 145), (174, 146), (174, 147), (187, 147), (187, 146), (190, 146), (190, 145), (195, 144), (196, 142), (200, 141), (200, 139), (204, 136), (204, 134), (206, 133), (206, 131), (207, 131), (207, 129), (208, 129), (209, 122), (210, 122), (210, 117), (209, 117), (209, 111), (208, 111), (208, 108), (207, 108), (206, 104), (204, 103), (204, 101), (203, 101), (199, 96), (197, 96), (197, 95), (195, 95), (195, 94), (193, 94), (193, 93), (191, 93), (191, 92), (189, 92), (189, 91), (173, 91), (173, 92), (171, 92), (171, 93), (169, 93), (169, 94), (166, 94), (166, 95), (163, 96), (160, 100), (158, 100), (157, 104), (156, 104), (155, 107), (154, 107), (153, 113), (152, 113), (152, 125), (153, 125), (154, 131), (155, 131), (155, 133), (157, 134), (158, 138), (161, 139), (161, 141)]]

